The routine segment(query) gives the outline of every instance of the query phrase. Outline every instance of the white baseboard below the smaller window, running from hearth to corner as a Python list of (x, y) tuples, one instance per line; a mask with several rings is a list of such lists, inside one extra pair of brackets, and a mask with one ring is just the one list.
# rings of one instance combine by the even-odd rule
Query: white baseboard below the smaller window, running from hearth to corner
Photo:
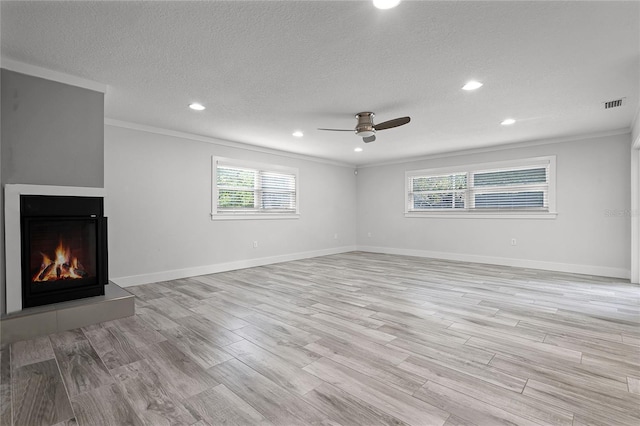
[(291, 260), (308, 259), (310, 257), (327, 256), (330, 254), (355, 251), (355, 246), (336, 247), (324, 250), (306, 251), (300, 253), (283, 254), (280, 256), (260, 257), (257, 259), (243, 259), (234, 262), (216, 263), (213, 265), (194, 266), (192, 268), (173, 269), (169, 271), (151, 272), (148, 274), (131, 275), (109, 279), (120, 287), (131, 287), (160, 281), (177, 280), (180, 278), (196, 277), (198, 275), (215, 274), (218, 272), (234, 271), (255, 266), (271, 265)]

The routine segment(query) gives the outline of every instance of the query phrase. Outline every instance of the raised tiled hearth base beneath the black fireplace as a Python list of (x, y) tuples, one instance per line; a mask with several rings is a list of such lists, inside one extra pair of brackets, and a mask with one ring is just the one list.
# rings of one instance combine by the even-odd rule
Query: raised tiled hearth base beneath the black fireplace
[(0, 318), (0, 342), (11, 343), (134, 314), (134, 296), (110, 282), (104, 296), (23, 309)]

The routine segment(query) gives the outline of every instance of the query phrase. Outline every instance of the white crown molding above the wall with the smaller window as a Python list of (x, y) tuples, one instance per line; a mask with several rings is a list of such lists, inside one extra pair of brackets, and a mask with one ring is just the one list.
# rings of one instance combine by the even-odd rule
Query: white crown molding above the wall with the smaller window
[(192, 140), (192, 141), (196, 141), (196, 142), (205, 142), (205, 143), (210, 143), (210, 144), (213, 144), (213, 145), (220, 145), (220, 146), (226, 146), (226, 147), (230, 147), (230, 148), (243, 149), (243, 150), (246, 150), (246, 151), (260, 152), (260, 153), (263, 153), (263, 154), (277, 155), (277, 156), (280, 156), (280, 157), (295, 158), (297, 160), (312, 161), (314, 163), (329, 164), (329, 165), (332, 165), (332, 166), (348, 167), (348, 168), (355, 168), (356, 167), (355, 164), (341, 163), (339, 161), (332, 161), (332, 160), (328, 160), (328, 159), (320, 158), (320, 157), (312, 157), (310, 155), (296, 154), (296, 153), (293, 153), (293, 152), (280, 151), (280, 150), (272, 149), (272, 148), (264, 148), (264, 147), (260, 147), (260, 146), (256, 146), (256, 145), (249, 145), (249, 144), (242, 143), (242, 142), (234, 142), (234, 141), (228, 141), (228, 140), (223, 140), (223, 139), (216, 139), (216, 138), (212, 138), (212, 137), (209, 137), (209, 136), (201, 136), (201, 135), (195, 135), (193, 133), (179, 132), (179, 131), (176, 131), (176, 130), (163, 129), (161, 127), (148, 126), (146, 124), (138, 124), (138, 123), (132, 123), (132, 122), (129, 122), (129, 121), (115, 120), (113, 118), (106, 118), (105, 117), (104, 124), (105, 124), (105, 126), (120, 127), (120, 128), (123, 128), (123, 129), (137, 130), (137, 131), (140, 131), (140, 132), (155, 133), (157, 135), (172, 136), (172, 137), (175, 137), (175, 138), (187, 139), (187, 140)]

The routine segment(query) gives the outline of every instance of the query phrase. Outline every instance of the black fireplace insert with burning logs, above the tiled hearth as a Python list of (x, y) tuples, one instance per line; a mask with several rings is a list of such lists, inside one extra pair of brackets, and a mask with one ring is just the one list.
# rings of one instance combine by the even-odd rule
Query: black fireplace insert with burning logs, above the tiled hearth
[(20, 196), (24, 308), (104, 294), (103, 204), (102, 197)]

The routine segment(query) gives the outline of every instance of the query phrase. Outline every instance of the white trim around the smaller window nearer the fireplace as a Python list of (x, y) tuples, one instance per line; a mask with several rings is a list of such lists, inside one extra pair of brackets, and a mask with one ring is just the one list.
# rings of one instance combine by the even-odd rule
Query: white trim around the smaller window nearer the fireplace
[[(218, 175), (216, 165), (221, 163), (225, 166), (246, 167), (248, 169), (266, 170), (270, 172), (281, 172), (292, 174), (296, 177), (296, 212), (295, 213), (266, 213), (266, 212), (246, 212), (246, 211), (218, 211)], [(226, 157), (211, 157), (211, 220), (278, 220), (278, 219), (299, 219), (300, 218), (300, 182), (298, 169), (270, 163), (259, 163), (255, 161), (237, 160)]]

